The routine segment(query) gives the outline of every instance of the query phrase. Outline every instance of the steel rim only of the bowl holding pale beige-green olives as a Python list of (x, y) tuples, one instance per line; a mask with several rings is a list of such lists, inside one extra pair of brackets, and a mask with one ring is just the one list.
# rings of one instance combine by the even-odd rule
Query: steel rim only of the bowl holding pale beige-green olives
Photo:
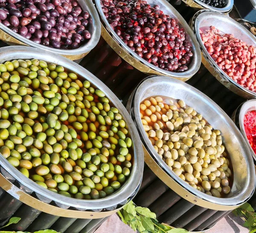
[[(247, 201), (252, 195), (253, 191), (255, 189), (255, 170), (254, 170), (254, 165), (253, 165), (253, 159), (250, 156), (250, 150), (248, 147), (245, 147), (245, 152), (244, 152), (244, 157), (247, 159), (247, 169), (249, 170), (248, 175), (250, 175), (250, 181), (251, 183), (247, 180), (246, 188), (244, 189), (244, 192), (246, 192), (246, 198), (241, 199), (240, 195), (241, 192), (233, 197), (226, 197), (226, 198), (217, 198), (214, 196), (209, 196), (205, 193), (202, 193), (201, 191), (196, 190), (195, 188), (191, 187), (189, 184), (186, 184), (181, 178), (179, 178), (172, 170), (169, 169), (168, 165), (159, 157), (157, 152), (154, 150), (153, 145), (151, 144), (151, 141), (148, 140), (148, 137), (145, 133), (145, 130), (143, 128), (143, 124), (140, 119), (140, 100), (143, 101), (143, 99), (140, 99), (140, 97), (143, 95), (146, 89), (150, 89), (152, 86), (152, 83), (157, 83), (157, 85), (163, 85), (166, 87), (166, 85), (180, 85), (182, 88), (185, 89), (190, 89), (195, 95), (199, 96), (201, 100), (206, 100), (209, 105), (213, 106), (216, 111), (218, 111), (218, 117), (219, 118), (224, 118), (227, 119), (228, 123), (230, 126), (233, 127), (235, 130), (236, 135), (239, 136), (239, 139), (241, 141), (244, 141), (245, 144), (245, 139), (241, 135), (241, 132), (239, 129), (236, 127), (234, 122), (229, 118), (229, 116), (217, 105), (215, 104), (214, 101), (212, 101), (207, 95), (204, 95), (204, 93), (200, 92), (198, 89), (195, 89), (194, 87), (190, 86), (187, 83), (181, 82), (179, 80), (173, 79), (173, 78), (168, 78), (164, 76), (157, 76), (153, 75), (148, 78), (145, 78), (138, 86), (137, 89), (133, 93), (132, 101), (131, 101), (131, 116), (134, 119), (134, 123), (136, 124), (136, 127), (139, 131), (141, 140), (143, 141), (143, 145), (145, 146), (146, 150), (148, 153), (151, 155), (152, 159), (154, 159), (157, 164), (162, 167), (162, 169), (172, 178), (174, 179), (178, 184), (180, 184), (184, 189), (188, 190), (190, 193), (194, 194), (198, 198), (204, 199), (206, 201), (215, 203), (215, 204), (220, 204), (220, 205), (226, 205), (226, 206), (234, 206), (234, 205), (239, 205)], [(153, 87), (154, 88), (154, 87)], [(151, 89), (153, 89), (151, 88)], [(185, 91), (184, 91), (185, 92)], [(161, 96), (161, 93), (159, 93)], [(169, 95), (171, 97), (171, 94)], [(182, 95), (180, 95), (180, 98), (182, 99)], [(196, 109), (195, 109), (196, 110)], [(206, 110), (207, 111), (207, 110)], [(201, 114), (204, 117), (204, 112), (201, 112)], [(206, 119), (207, 120), (207, 119)], [(232, 188), (232, 187), (231, 187)]]

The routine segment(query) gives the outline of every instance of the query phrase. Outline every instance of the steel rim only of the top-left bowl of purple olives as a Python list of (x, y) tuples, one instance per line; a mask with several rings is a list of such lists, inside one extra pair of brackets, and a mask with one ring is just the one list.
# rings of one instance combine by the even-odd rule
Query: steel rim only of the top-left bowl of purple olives
[(93, 5), (91, 0), (86, 0), (86, 1), (78, 0), (78, 3), (80, 4), (81, 8), (86, 9), (89, 12), (89, 14), (91, 16), (90, 23), (93, 27), (93, 33), (91, 35), (90, 40), (88, 42), (86, 42), (84, 45), (82, 45), (81, 47), (79, 47), (78, 49), (69, 49), (69, 50), (54, 49), (54, 48), (51, 48), (48, 46), (44, 46), (44, 45), (35, 43), (32, 40), (26, 39), (25, 37), (19, 35), (18, 33), (13, 32), (11, 29), (4, 26), (3, 23), (0, 23), (0, 29), (2, 29), (4, 32), (11, 35), (15, 39), (20, 40), (21, 42), (23, 42), (29, 46), (39, 48), (39, 49), (44, 49), (49, 52), (58, 53), (59, 55), (80, 55), (80, 54), (88, 53), (99, 42), (100, 32), (101, 32), (101, 23), (99, 20), (99, 15), (98, 15), (98, 13), (95, 9), (95, 6)]

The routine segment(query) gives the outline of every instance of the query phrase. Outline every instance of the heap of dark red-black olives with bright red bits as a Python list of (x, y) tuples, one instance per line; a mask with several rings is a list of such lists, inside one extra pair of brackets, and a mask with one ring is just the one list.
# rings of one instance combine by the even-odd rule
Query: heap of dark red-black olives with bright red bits
[(175, 19), (145, 0), (101, 0), (102, 11), (130, 49), (154, 66), (183, 72), (193, 56), (191, 44)]

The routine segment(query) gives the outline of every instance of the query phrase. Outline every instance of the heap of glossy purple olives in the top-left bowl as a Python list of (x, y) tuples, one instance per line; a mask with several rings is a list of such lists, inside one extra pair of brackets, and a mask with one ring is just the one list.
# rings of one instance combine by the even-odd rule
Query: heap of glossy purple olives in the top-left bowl
[(0, 22), (35, 43), (77, 49), (90, 39), (90, 14), (76, 0), (0, 0)]

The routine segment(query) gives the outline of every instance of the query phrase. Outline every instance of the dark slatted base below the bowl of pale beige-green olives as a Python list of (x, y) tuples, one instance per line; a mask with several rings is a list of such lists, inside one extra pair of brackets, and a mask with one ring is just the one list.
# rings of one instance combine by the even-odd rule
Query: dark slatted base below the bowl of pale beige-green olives
[(189, 231), (207, 230), (230, 213), (206, 209), (186, 201), (157, 178), (146, 164), (142, 185), (134, 202), (156, 213), (159, 222)]

